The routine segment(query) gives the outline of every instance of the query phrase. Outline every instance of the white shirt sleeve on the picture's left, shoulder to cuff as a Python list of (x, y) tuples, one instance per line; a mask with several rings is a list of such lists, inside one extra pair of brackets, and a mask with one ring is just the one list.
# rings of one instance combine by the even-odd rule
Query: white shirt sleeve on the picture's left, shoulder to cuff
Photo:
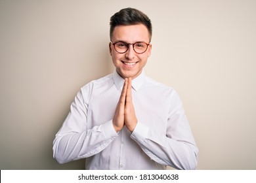
[(66, 120), (56, 133), (53, 141), (53, 157), (58, 163), (93, 156), (104, 150), (118, 136), (112, 120), (87, 129), (87, 107), (90, 96), (88, 88), (82, 88), (84, 90), (77, 93)]

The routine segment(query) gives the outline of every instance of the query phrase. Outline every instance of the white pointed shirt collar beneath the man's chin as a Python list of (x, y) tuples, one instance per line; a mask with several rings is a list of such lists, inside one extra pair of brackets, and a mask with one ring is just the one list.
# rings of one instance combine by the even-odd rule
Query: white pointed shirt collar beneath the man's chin
[[(132, 80), (131, 86), (136, 92), (139, 91), (140, 87), (144, 83), (145, 78), (146, 78), (146, 75), (142, 70), (142, 73)], [(117, 90), (122, 90), (124, 79), (117, 73), (116, 69), (113, 73), (113, 79), (114, 79), (114, 83), (116, 85)]]

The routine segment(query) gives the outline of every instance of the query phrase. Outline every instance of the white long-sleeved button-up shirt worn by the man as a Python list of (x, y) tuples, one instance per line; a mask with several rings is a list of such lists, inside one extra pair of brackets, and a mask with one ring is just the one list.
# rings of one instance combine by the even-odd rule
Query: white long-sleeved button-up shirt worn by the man
[(54, 139), (56, 161), (86, 158), (86, 169), (196, 169), (198, 148), (181, 99), (144, 72), (132, 80), (137, 126), (116, 133), (112, 118), (123, 82), (114, 71), (81, 88)]

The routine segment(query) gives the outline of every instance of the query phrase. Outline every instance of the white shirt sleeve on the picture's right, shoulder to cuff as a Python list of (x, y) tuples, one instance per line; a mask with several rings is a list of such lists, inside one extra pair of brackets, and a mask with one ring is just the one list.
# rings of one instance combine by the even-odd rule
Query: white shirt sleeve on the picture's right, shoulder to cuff
[(152, 160), (162, 165), (175, 169), (196, 169), (198, 147), (177, 93), (171, 102), (166, 134), (138, 122), (131, 138)]

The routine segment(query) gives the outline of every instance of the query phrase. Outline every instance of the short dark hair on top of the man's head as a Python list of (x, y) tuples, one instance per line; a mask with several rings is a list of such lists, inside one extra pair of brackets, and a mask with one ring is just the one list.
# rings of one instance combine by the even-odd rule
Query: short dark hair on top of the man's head
[(137, 25), (137, 24), (143, 24), (147, 27), (148, 33), (150, 35), (150, 41), (152, 37), (152, 25), (151, 21), (140, 10), (137, 10), (135, 8), (123, 8), (119, 10), (119, 12), (116, 12), (111, 18), (110, 18), (110, 39), (112, 38), (112, 33), (117, 25)]

